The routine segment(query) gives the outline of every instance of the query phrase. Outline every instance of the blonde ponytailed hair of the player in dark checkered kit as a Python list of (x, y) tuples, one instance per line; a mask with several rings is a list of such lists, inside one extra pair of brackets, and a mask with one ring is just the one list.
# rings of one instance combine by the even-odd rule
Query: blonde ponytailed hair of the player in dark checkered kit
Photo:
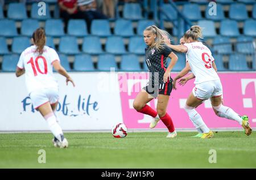
[(155, 47), (158, 51), (164, 48), (164, 36), (171, 37), (167, 31), (161, 30), (155, 25), (148, 26), (144, 31), (151, 31), (152, 34), (156, 35), (155, 42), (151, 45), (151, 48)]

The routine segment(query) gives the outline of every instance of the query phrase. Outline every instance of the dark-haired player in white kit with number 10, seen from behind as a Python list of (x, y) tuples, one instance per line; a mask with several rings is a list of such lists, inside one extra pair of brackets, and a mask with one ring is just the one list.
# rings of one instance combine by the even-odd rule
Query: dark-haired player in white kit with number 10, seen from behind
[(67, 148), (68, 141), (57, 123), (55, 109), (59, 99), (58, 84), (53, 77), (52, 66), (66, 82), (75, 83), (67, 71), (60, 65), (60, 58), (56, 51), (47, 47), (46, 34), (43, 28), (38, 28), (32, 35), (33, 44), (20, 55), (16, 68), (16, 77), (26, 76), (26, 85), (32, 104), (46, 119), (49, 129), (54, 135), (52, 143), (56, 147)]

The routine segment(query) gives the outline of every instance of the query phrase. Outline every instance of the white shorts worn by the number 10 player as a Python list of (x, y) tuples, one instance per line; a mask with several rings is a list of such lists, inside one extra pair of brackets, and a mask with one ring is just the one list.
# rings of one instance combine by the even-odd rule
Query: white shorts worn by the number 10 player
[(56, 89), (41, 89), (30, 93), (30, 98), (35, 109), (49, 102), (54, 104), (59, 100), (59, 92)]

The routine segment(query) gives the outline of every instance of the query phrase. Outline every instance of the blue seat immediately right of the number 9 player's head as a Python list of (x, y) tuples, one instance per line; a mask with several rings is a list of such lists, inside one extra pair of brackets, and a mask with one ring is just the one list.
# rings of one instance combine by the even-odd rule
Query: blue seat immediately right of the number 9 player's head
[(216, 36), (216, 30), (214, 22), (212, 20), (199, 20), (198, 25), (203, 27), (204, 37), (214, 37)]

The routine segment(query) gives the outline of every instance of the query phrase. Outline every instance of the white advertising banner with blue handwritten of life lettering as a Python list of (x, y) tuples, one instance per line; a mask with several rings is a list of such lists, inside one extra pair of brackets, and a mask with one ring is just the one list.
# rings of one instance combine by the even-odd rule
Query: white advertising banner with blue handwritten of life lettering
[[(57, 116), (63, 130), (104, 130), (122, 123), (117, 73), (69, 73), (76, 86), (55, 74), (59, 83)], [(0, 131), (48, 131), (47, 123), (34, 110), (25, 78), (0, 74)]]

